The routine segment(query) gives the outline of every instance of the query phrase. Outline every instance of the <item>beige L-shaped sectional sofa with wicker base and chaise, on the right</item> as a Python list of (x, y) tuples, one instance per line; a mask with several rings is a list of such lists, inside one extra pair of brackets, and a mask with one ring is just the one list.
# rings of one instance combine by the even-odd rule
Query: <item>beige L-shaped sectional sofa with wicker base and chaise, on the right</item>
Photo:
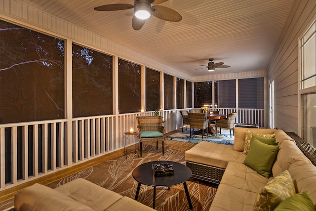
[[(268, 178), (243, 164), (247, 157), (243, 153), (246, 130), (275, 134), (278, 152)], [(219, 183), (209, 211), (252, 211), (258, 193), (286, 172), (296, 188), (292, 194), (309, 191), (316, 207), (316, 167), (282, 130), (236, 127), (234, 146), (202, 141), (186, 151), (185, 159), (193, 177)]]

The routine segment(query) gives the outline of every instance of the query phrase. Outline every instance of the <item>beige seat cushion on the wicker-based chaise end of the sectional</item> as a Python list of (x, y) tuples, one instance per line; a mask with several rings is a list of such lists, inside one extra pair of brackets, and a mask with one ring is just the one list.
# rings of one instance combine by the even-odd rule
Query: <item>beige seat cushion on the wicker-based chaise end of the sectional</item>
[(246, 155), (233, 150), (233, 146), (201, 141), (185, 152), (187, 161), (225, 169), (228, 162), (242, 163)]

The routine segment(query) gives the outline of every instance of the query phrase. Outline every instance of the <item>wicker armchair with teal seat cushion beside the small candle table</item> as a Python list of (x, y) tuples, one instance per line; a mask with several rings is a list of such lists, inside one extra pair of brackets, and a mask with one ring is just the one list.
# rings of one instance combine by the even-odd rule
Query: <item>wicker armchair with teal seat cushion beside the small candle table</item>
[(136, 117), (137, 132), (140, 143), (140, 157), (142, 157), (142, 142), (143, 141), (162, 141), (162, 155), (164, 155), (163, 141), (164, 141), (164, 127), (161, 125), (161, 116), (150, 117)]

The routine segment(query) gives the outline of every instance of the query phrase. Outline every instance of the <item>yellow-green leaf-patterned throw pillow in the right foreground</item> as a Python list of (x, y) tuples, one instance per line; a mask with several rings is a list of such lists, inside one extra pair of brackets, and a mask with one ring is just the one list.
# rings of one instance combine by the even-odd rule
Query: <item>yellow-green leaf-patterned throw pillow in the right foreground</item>
[(273, 211), (282, 201), (294, 194), (294, 183), (289, 172), (285, 170), (260, 190), (253, 210)]

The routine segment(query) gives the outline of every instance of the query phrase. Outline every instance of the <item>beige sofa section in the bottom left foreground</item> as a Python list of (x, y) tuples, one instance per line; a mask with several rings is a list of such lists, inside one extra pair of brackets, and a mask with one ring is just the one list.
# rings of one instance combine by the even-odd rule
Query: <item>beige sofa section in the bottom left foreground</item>
[(55, 189), (38, 183), (14, 198), (15, 211), (154, 211), (129, 197), (78, 178)]

